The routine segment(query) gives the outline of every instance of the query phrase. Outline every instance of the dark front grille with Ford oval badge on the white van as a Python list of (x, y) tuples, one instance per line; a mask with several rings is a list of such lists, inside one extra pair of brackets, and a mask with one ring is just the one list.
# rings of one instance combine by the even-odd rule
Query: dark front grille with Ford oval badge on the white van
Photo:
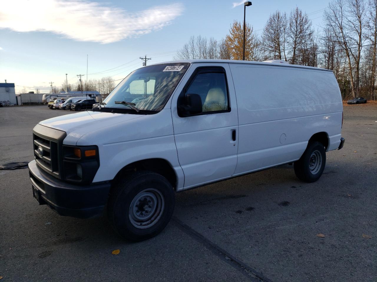
[(40, 124), (33, 129), (34, 157), (37, 165), (59, 179), (63, 178), (61, 149), (65, 136), (64, 131)]

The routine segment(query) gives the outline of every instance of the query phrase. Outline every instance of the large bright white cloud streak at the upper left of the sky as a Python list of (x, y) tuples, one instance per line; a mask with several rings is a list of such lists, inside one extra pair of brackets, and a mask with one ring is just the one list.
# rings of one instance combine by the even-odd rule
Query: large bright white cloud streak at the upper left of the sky
[(182, 14), (183, 5), (138, 12), (81, 0), (13, 0), (1, 4), (0, 29), (44, 31), (77, 41), (111, 43), (161, 29)]

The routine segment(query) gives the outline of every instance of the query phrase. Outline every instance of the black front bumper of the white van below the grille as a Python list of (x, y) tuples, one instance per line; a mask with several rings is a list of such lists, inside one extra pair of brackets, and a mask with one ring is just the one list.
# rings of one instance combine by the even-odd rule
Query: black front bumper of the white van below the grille
[(29, 162), (29, 175), (34, 198), (60, 215), (90, 218), (103, 214), (109, 196), (110, 183), (78, 186), (61, 181)]

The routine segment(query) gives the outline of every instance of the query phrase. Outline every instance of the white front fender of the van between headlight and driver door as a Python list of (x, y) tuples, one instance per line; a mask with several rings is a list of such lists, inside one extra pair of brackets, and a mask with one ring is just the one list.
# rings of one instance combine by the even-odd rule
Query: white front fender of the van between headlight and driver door
[[(177, 187), (183, 186), (184, 175), (178, 162), (170, 109), (153, 115), (123, 114), (123, 117), (123, 122), (120, 119), (117, 123), (108, 123), (77, 141), (78, 146), (91, 144), (93, 140), (98, 144), (100, 168), (93, 182), (112, 180), (118, 171), (132, 162), (159, 158), (172, 166)], [(146, 126), (141, 128), (140, 124)]]

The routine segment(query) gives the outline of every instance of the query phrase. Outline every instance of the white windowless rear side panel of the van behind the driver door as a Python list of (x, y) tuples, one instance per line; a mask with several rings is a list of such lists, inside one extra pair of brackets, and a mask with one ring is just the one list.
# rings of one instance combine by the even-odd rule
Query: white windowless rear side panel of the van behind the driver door
[(340, 144), (342, 99), (330, 71), (230, 64), (239, 112), (235, 174), (296, 161), (317, 132)]

